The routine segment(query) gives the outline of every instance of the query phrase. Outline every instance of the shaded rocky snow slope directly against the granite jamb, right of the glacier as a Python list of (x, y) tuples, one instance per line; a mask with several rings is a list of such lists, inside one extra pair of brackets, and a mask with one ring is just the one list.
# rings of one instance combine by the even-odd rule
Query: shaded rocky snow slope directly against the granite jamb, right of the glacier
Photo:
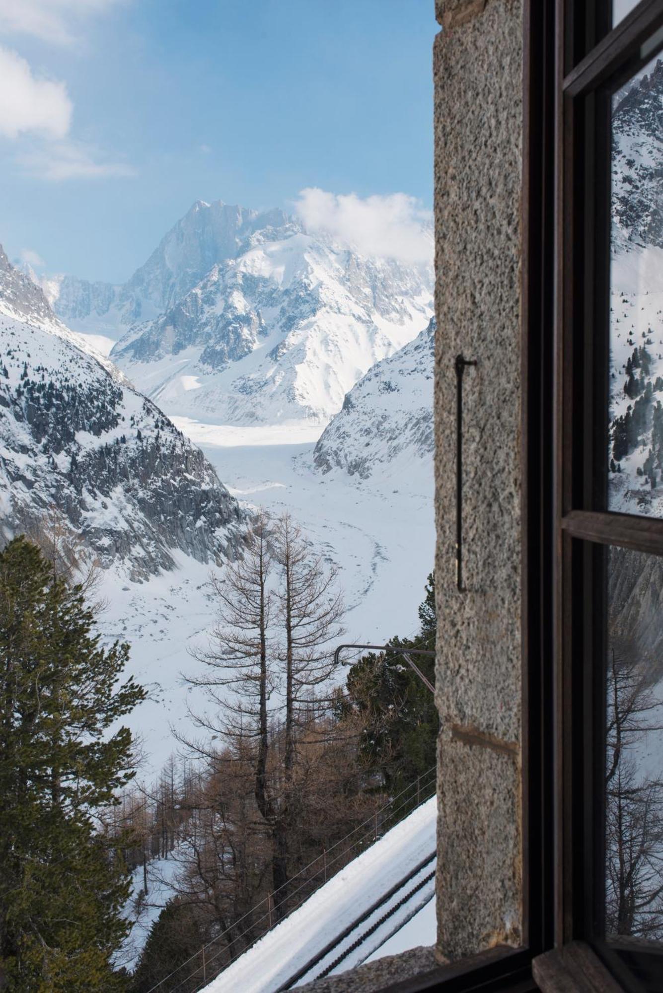
[(322, 473), (368, 479), (432, 465), (435, 318), (395, 355), (377, 362), (343, 400), (314, 453)]

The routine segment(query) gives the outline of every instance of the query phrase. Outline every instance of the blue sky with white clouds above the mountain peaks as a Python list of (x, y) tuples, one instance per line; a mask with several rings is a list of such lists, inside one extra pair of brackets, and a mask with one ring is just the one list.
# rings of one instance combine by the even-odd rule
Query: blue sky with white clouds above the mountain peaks
[(197, 199), (430, 208), (437, 30), (433, 0), (0, 0), (0, 241), (122, 281)]

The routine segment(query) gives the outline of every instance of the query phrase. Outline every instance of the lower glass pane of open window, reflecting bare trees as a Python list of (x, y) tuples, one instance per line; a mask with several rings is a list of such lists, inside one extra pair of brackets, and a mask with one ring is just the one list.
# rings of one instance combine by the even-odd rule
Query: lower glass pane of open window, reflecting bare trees
[[(605, 937), (663, 976), (663, 560), (613, 548), (607, 567)], [(645, 968), (647, 969), (648, 966)], [(648, 983), (645, 988), (650, 987)]]

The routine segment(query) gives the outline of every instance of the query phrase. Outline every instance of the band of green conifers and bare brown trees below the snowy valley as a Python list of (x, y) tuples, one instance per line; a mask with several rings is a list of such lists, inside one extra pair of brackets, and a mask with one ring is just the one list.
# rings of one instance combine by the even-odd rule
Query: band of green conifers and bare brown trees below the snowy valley
[[(0, 989), (142, 993), (205, 944), (209, 980), (422, 798), (430, 691), (395, 650), (341, 669), (335, 569), (290, 516), (258, 514), (210, 579), (217, 622), (187, 676), (205, 709), (138, 785), (118, 729), (145, 696), (122, 679), (128, 646), (102, 645), (89, 576), (40, 543), (0, 552)], [(420, 614), (394, 648), (434, 644), (433, 577)], [(153, 860), (170, 899), (130, 973), (127, 909), (155, 899)]]

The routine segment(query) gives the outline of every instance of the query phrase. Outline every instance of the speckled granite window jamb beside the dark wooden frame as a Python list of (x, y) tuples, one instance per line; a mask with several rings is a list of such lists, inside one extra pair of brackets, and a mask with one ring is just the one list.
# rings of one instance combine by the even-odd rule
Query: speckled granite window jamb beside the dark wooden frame
[[(438, 954), (521, 935), (521, 0), (437, 0)], [(452, 16), (453, 15), (453, 16)], [(464, 579), (456, 588), (456, 373)]]

